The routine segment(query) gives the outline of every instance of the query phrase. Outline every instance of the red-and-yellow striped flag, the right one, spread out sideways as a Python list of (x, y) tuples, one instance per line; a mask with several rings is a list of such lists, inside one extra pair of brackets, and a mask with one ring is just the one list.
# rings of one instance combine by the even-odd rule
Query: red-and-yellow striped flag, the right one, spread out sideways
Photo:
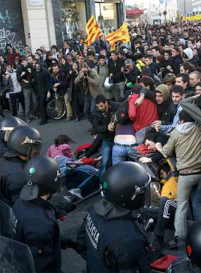
[(123, 44), (130, 42), (130, 36), (128, 33), (127, 23), (123, 23), (123, 25), (116, 31), (111, 32), (105, 36), (105, 40), (110, 43), (111, 49), (115, 49), (115, 44), (121, 41)]

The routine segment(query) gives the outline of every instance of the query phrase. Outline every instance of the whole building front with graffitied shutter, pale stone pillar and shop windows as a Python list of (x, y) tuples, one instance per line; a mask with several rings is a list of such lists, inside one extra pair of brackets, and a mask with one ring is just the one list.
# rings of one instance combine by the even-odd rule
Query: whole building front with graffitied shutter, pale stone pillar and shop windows
[(32, 52), (40, 45), (63, 47), (94, 15), (102, 32), (113, 32), (125, 20), (124, 0), (0, 0), (0, 51), (6, 44)]

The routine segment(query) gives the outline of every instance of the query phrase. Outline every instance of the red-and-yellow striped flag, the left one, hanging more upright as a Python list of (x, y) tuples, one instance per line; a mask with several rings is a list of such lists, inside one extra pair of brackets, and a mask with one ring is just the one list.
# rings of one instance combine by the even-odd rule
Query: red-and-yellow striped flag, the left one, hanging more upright
[(87, 38), (84, 41), (86, 46), (92, 45), (93, 42), (102, 35), (101, 29), (93, 15), (86, 23), (86, 34)]

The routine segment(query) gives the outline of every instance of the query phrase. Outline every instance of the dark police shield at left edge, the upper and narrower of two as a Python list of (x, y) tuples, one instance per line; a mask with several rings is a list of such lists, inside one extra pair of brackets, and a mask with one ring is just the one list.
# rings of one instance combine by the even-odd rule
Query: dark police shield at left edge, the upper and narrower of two
[(0, 200), (0, 235), (13, 238), (11, 208)]

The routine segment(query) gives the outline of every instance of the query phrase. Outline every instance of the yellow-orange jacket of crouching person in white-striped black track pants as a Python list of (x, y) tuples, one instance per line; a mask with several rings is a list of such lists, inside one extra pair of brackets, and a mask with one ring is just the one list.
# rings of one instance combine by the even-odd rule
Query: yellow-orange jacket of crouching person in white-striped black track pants
[(178, 177), (170, 177), (168, 180), (161, 180), (161, 183), (164, 184), (161, 191), (161, 197), (168, 197), (171, 200), (177, 198), (177, 179)]

